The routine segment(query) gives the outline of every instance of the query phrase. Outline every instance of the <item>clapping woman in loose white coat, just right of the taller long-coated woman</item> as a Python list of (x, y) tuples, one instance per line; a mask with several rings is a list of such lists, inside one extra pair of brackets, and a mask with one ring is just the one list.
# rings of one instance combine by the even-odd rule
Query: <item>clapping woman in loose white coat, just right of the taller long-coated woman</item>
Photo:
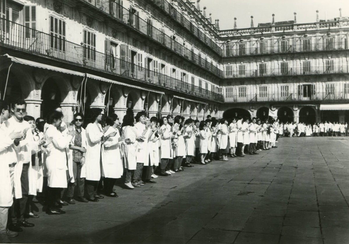
[(105, 141), (102, 146), (102, 176), (104, 177), (104, 192), (106, 196), (118, 197), (113, 191), (116, 179), (121, 178), (124, 173), (122, 165), (120, 145), (123, 143), (123, 137), (118, 131), (119, 118), (114, 113), (106, 118), (106, 125), (109, 129), (104, 133)]

